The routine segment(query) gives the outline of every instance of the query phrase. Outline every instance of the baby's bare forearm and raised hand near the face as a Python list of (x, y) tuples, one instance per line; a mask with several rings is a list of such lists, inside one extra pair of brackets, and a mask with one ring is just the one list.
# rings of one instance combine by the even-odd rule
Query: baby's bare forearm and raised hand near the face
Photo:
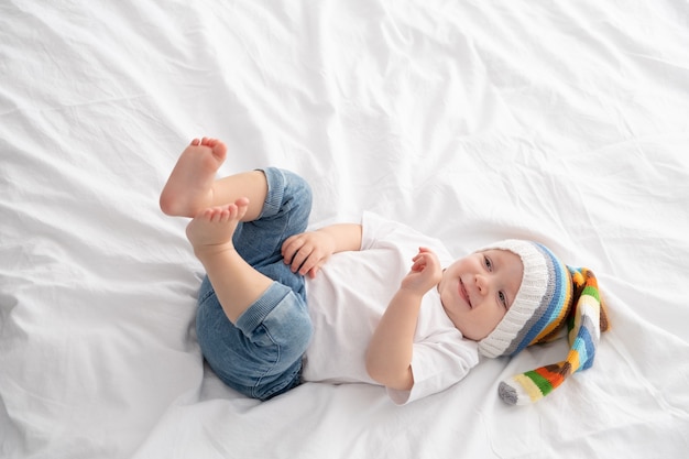
[(367, 371), (374, 381), (400, 391), (414, 385), (412, 352), (418, 312), (422, 298), (438, 285), (441, 275), (437, 255), (420, 248), (369, 343)]

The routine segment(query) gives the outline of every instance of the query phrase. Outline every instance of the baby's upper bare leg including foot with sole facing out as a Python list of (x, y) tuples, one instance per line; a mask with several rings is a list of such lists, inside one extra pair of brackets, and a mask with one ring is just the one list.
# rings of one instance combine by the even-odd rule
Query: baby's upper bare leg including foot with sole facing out
[(216, 181), (216, 173), (227, 156), (227, 146), (217, 139), (194, 139), (187, 146), (161, 193), (161, 209), (172, 216), (196, 217), (214, 206), (249, 198), (243, 221), (259, 217), (267, 193), (265, 176), (252, 171)]

